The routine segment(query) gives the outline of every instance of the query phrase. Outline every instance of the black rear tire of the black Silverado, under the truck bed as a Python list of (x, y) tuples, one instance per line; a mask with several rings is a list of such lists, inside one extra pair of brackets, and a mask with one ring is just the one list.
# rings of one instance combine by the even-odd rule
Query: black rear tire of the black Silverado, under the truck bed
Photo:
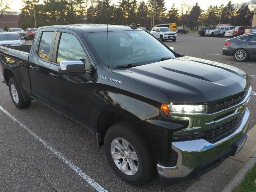
[[(12, 98), (12, 102), (14, 103), (14, 105), (19, 108), (19, 109), (23, 109), (23, 108), (27, 108), (30, 106), (31, 104), (31, 100), (30, 101), (24, 101), (24, 98), (22, 96), (21, 90), (20, 90), (20, 86), (17, 83), (17, 80), (15, 77), (10, 78), (9, 82), (8, 82), (8, 86), (9, 86), (9, 92), (10, 92), (10, 96)], [(18, 97), (18, 100), (14, 100), (14, 96), (12, 95), (12, 88), (16, 89), (16, 95)]]

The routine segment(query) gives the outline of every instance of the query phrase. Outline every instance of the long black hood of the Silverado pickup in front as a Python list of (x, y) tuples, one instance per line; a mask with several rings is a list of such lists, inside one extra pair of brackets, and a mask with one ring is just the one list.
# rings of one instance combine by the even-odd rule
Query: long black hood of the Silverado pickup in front
[(250, 84), (250, 77), (236, 67), (189, 56), (113, 72), (162, 90), (171, 102), (211, 102)]

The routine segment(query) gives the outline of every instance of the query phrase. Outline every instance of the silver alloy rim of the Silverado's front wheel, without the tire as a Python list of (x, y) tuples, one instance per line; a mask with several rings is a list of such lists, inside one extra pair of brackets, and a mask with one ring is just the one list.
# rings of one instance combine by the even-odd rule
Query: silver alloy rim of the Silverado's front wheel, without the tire
[(112, 158), (116, 166), (127, 175), (138, 171), (139, 162), (132, 145), (123, 138), (115, 138), (110, 146)]

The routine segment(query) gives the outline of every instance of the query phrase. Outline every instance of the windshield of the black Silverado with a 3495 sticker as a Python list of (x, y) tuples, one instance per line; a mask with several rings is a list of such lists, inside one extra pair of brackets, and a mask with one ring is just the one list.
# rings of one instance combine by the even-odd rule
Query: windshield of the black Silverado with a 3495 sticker
[(94, 32), (84, 36), (108, 67), (138, 66), (175, 58), (172, 51), (144, 31)]

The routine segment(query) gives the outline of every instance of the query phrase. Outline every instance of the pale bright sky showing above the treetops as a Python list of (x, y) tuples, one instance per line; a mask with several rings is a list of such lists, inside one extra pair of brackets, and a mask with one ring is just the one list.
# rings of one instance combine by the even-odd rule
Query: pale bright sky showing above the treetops
[[(8, 0), (9, 1), (9, 0)], [(22, 7), (22, 1), (21, 0), (10, 0), (12, 1), (11, 3), (11, 8), (14, 11), (20, 12), (20, 8)], [(140, 0), (138, 0), (140, 1)], [(217, 0), (217, 1), (211, 1), (211, 0), (185, 0), (186, 3), (194, 5), (196, 2), (201, 6), (202, 9), (206, 10), (210, 5), (217, 5), (220, 6), (222, 3), (226, 5), (229, 0)], [(40, 0), (40, 2), (43, 2)], [(117, 3), (118, 0), (112, 0), (112, 2)], [(180, 4), (184, 2), (184, 0), (165, 0), (165, 4), (167, 7), (167, 10), (170, 9), (172, 4), (175, 2), (176, 8), (179, 8)], [(242, 2), (250, 2), (250, 0), (232, 0), (232, 3), (242, 3)]]

